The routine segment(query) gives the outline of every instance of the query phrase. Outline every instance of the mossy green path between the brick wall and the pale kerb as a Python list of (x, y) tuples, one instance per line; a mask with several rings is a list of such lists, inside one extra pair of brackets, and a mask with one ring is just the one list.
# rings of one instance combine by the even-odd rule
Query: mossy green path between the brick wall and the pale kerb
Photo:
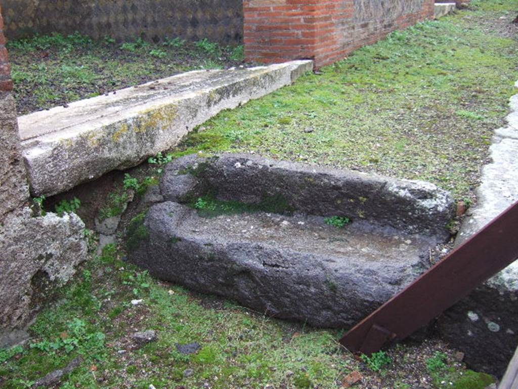
[(518, 79), (518, 42), (500, 31), (518, 2), (473, 7), (394, 32), (321, 75), (223, 112), (180, 150), (252, 151), (427, 180), (472, 197)]

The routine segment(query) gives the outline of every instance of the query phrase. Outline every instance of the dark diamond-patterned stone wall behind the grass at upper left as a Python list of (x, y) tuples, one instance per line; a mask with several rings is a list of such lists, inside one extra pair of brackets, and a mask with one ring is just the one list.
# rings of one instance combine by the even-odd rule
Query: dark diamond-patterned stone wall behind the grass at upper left
[(34, 33), (79, 31), (95, 39), (142, 37), (208, 38), (224, 45), (243, 36), (241, 0), (2, 0), (5, 35), (16, 39)]

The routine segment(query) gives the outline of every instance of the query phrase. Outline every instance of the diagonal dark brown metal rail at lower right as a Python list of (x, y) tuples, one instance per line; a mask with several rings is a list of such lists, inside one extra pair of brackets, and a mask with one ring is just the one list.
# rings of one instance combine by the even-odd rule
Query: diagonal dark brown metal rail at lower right
[(340, 343), (371, 354), (411, 335), (518, 258), (518, 203), (354, 326)]

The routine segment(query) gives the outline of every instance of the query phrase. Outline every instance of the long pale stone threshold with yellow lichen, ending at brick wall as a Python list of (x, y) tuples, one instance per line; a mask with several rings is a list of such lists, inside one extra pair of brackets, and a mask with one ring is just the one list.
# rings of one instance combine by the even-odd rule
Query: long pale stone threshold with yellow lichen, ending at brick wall
[(293, 83), (312, 61), (197, 70), (18, 118), (31, 193), (54, 195), (178, 144), (194, 127)]

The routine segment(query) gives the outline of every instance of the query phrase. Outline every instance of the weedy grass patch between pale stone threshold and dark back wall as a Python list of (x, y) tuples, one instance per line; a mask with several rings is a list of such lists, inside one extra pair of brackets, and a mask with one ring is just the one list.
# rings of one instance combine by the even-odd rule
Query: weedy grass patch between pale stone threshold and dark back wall
[(243, 48), (207, 39), (186, 42), (142, 39), (117, 44), (79, 33), (35, 36), (8, 42), (20, 114), (66, 105), (82, 98), (168, 77), (193, 69), (239, 65)]

